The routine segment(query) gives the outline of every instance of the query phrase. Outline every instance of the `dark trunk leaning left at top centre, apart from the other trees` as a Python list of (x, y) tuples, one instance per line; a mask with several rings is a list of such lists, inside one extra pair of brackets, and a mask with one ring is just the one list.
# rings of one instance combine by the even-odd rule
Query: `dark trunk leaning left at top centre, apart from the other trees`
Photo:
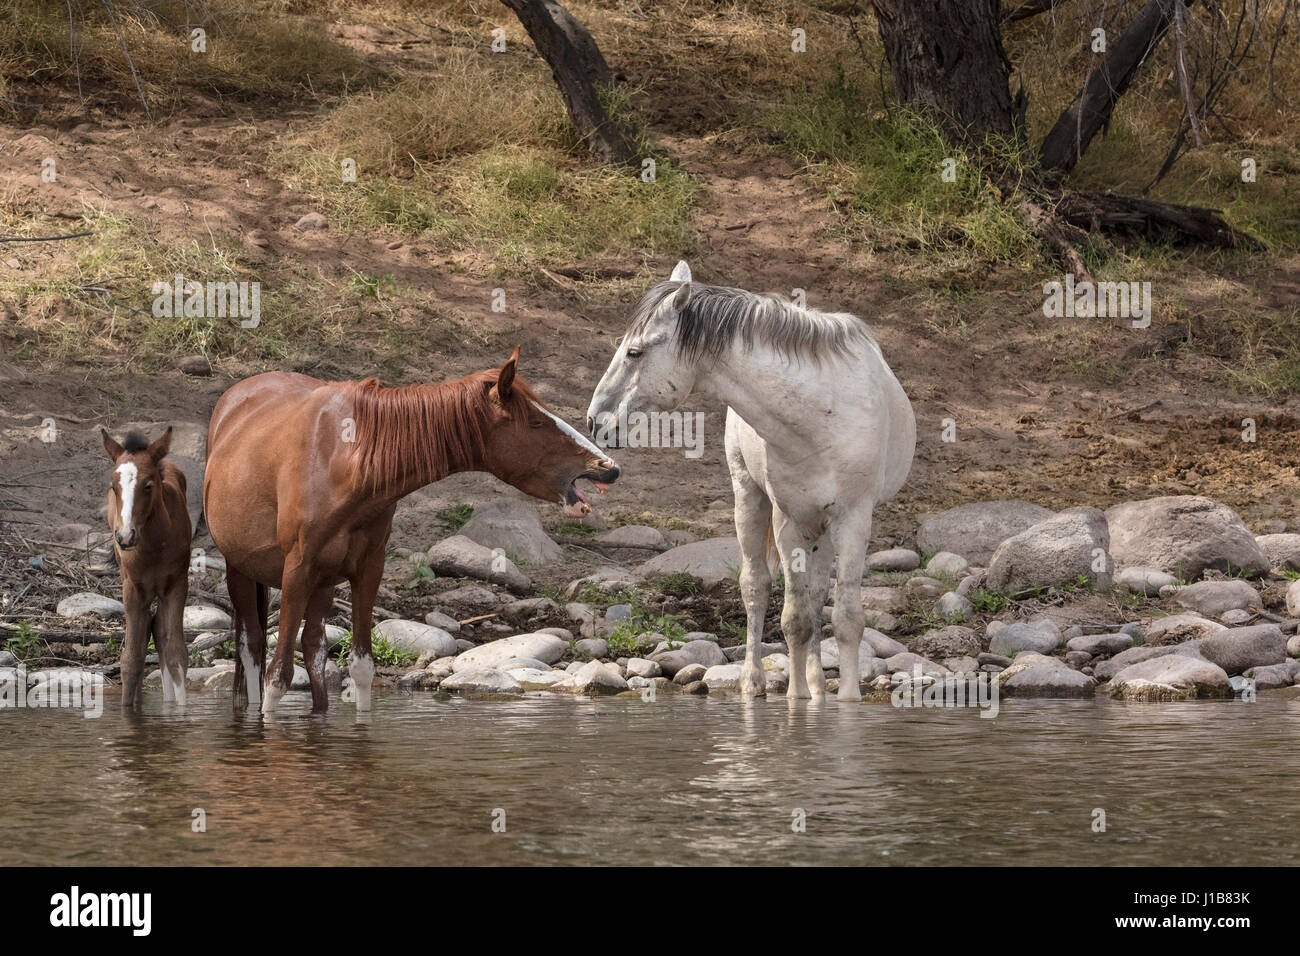
[(610, 85), (611, 74), (588, 29), (554, 0), (500, 1), (515, 12), (551, 68), (564, 108), (592, 152), (602, 163), (630, 164), (636, 150), (597, 91)]

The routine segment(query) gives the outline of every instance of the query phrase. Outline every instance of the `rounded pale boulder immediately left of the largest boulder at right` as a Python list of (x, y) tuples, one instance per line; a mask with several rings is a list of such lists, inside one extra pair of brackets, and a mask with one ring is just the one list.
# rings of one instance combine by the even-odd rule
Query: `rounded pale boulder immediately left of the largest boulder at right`
[(1109, 587), (1109, 549), (1110, 535), (1101, 511), (1066, 509), (1002, 541), (988, 564), (985, 584), (994, 591), (1019, 591), (1086, 579)]

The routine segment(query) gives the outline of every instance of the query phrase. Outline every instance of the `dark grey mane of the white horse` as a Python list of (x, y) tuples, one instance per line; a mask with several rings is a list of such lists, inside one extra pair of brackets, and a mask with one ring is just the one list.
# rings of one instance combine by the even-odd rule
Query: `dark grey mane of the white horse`
[[(650, 289), (637, 306), (628, 332), (640, 332), (681, 282), (668, 280)], [(783, 295), (759, 295), (745, 289), (692, 284), (686, 307), (677, 312), (677, 352), (686, 359), (716, 359), (740, 339), (755, 342), (788, 359), (848, 355), (857, 343), (875, 345), (867, 324), (848, 312), (801, 308)]]

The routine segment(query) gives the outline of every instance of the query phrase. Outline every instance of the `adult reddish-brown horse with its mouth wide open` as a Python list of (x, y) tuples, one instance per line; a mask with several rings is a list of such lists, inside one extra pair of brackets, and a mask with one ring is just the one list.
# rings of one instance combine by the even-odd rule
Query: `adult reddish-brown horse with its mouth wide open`
[[(603, 490), (618, 479), (618, 466), (516, 377), (517, 363), (516, 347), (499, 371), (396, 389), (266, 372), (221, 397), (208, 425), (203, 507), (235, 609), (237, 708), (260, 697), (263, 713), (274, 709), (303, 624), (312, 710), (325, 711), (324, 620), (334, 587), (348, 581), (350, 674), (358, 710), (370, 709), (370, 610), (404, 496), (455, 472), (488, 471), (582, 515), (575, 481)], [(281, 606), (265, 674), (268, 587), (280, 587)]]

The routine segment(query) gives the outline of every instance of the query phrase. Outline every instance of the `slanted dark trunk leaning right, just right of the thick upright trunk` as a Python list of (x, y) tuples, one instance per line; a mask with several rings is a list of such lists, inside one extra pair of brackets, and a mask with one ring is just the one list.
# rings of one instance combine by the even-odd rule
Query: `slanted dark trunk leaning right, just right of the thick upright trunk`
[(1132, 83), (1138, 68), (1165, 36), (1174, 20), (1174, 8), (1175, 0), (1149, 0), (1110, 44), (1101, 66), (1092, 72), (1074, 103), (1044, 138), (1039, 150), (1044, 169), (1062, 173), (1074, 169), (1092, 138), (1110, 122), (1115, 101)]

